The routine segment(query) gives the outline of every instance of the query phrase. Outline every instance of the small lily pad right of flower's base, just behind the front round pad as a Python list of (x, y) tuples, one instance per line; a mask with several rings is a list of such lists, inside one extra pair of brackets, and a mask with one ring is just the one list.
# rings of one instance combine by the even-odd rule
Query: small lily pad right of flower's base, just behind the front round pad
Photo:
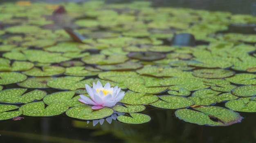
[(136, 113), (136, 112), (141, 112), (144, 111), (146, 107), (144, 105), (128, 105), (124, 104), (122, 105), (115, 105), (113, 106), (113, 110), (117, 112), (122, 112), (122, 113)]

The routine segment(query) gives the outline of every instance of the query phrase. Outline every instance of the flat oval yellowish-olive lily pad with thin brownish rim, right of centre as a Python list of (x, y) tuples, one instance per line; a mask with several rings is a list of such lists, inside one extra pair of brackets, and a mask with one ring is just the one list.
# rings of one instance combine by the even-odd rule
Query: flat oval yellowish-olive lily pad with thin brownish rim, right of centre
[(195, 69), (193, 76), (199, 78), (227, 78), (235, 75), (235, 72), (225, 69)]

